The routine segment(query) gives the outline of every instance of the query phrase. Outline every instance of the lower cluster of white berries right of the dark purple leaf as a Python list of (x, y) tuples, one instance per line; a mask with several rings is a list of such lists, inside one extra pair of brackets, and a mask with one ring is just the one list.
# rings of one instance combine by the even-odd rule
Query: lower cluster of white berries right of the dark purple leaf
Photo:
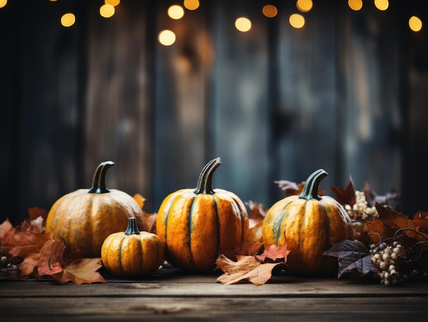
[(405, 256), (404, 247), (394, 241), (392, 245), (385, 242), (379, 245), (370, 245), (371, 263), (380, 269), (377, 277), (381, 284), (396, 285), (409, 279), (403, 267), (403, 258)]

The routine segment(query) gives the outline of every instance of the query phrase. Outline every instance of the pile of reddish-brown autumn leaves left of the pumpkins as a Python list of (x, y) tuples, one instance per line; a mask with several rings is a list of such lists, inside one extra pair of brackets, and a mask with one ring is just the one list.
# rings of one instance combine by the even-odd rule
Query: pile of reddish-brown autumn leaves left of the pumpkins
[(29, 209), (29, 219), (12, 227), (6, 219), (0, 224), (0, 278), (53, 278), (59, 284), (102, 282), (98, 273), (101, 258), (80, 258), (79, 252), (66, 254), (66, 246), (44, 233), (47, 213)]

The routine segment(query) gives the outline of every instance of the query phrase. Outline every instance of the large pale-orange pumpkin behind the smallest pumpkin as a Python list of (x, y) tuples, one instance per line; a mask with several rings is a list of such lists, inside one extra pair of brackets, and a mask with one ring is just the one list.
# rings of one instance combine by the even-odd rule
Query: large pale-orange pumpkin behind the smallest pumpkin
[(62, 196), (46, 218), (46, 232), (63, 241), (70, 252), (80, 250), (82, 257), (99, 257), (103, 241), (113, 232), (124, 231), (129, 217), (136, 217), (139, 227), (145, 228), (137, 201), (124, 191), (107, 189), (105, 175), (112, 165), (112, 161), (100, 163), (91, 189)]

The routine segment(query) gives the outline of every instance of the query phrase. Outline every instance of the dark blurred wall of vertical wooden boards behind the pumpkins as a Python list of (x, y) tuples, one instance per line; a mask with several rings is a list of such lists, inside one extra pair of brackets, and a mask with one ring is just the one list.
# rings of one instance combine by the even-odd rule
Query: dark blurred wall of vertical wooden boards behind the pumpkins
[[(396, 188), (401, 210), (428, 211), (428, 22), (424, 1), (314, 1), (294, 29), (295, 1), (200, 1), (179, 21), (176, 1), (9, 0), (0, 9), (1, 213), (18, 224), (32, 206), (90, 187), (95, 167), (115, 167), (107, 186), (147, 198), (196, 186), (222, 158), (213, 185), (271, 206), (273, 180), (297, 183), (323, 167), (321, 188), (364, 180)], [(265, 4), (278, 7), (267, 18)], [(59, 23), (74, 12), (69, 28)], [(235, 29), (238, 16), (252, 29)], [(157, 34), (172, 29), (172, 46)]]

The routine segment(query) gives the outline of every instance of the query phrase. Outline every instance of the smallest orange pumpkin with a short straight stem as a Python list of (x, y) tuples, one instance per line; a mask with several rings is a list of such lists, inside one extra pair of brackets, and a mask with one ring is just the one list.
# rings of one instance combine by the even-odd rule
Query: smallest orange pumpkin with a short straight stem
[(117, 276), (148, 276), (163, 263), (164, 245), (156, 234), (140, 232), (135, 218), (124, 232), (110, 234), (101, 247), (101, 260)]

